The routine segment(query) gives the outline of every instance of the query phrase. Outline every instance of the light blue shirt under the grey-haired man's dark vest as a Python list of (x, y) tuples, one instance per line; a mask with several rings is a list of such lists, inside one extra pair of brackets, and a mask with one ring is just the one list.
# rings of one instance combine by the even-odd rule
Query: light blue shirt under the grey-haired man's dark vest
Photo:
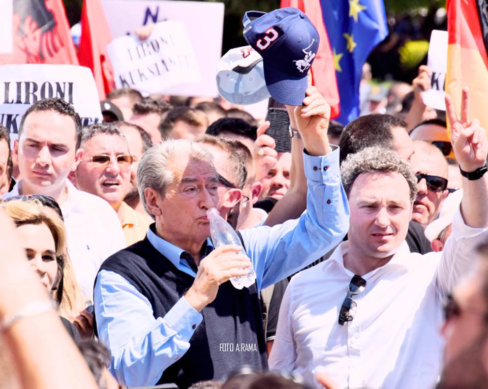
[[(273, 227), (241, 230), (258, 289), (292, 275), (338, 245), (349, 228), (349, 206), (339, 174), (339, 148), (322, 157), (303, 153), (307, 211)], [(180, 271), (195, 273), (184, 250), (149, 229), (149, 242)], [(210, 240), (207, 244), (211, 245)], [(112, 353), (110, 371), (128, 386), (154, 385), (190, 347), (202, 315), (185, 297), (157, 319), (147, 298), (125, 278), (100, 271), (94, 290), (99, 338)]]

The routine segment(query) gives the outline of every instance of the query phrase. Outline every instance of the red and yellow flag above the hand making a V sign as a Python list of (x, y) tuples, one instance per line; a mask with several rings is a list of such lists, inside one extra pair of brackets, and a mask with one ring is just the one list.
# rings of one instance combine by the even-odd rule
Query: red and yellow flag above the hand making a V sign
[(447, 0), (446, 92), (456, 114), (461, 111), (461, 91), (470, 88), (469, 116), (488, 129), (488, 14), (485, 0)]

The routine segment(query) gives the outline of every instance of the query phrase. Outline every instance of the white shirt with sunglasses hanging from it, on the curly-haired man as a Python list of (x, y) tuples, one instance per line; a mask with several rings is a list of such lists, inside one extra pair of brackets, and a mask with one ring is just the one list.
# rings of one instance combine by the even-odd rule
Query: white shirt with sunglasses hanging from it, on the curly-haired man
[(307, 382), (325, 371), (339, 387), (429, 389), (438, 379), (443, 341), (442, 299), (472, 261), (486, 229), (465, 225), (459, 208), (442, 253), (411, 253), (404, 242), (382, 267), (362, 276), (352, 321), (338, 323), (354, 276), (344, 267), (348, 243), (292, 278), (283, 297), (270, 369)]

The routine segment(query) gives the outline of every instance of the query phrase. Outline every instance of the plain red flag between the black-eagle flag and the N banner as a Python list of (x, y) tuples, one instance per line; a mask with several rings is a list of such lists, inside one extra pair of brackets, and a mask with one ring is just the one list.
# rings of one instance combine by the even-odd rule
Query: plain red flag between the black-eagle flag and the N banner
[(83, 2), (81, 39), (78, 59), (81, 66), (92, 69), (100, 100), (114, 88), (113, 69), (107, 52), (112, 34), (100, 0)]

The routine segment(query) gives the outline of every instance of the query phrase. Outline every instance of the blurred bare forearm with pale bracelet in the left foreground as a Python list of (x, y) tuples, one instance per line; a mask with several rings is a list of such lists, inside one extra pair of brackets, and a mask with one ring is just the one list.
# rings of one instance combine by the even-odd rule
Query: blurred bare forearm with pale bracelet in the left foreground
[[(25, 389), (98, 388), (39, 276), (27, 265), (12, 221), (0, 210), (0, 323)], [(19, 293), (19, 285), (22, 292)]]

